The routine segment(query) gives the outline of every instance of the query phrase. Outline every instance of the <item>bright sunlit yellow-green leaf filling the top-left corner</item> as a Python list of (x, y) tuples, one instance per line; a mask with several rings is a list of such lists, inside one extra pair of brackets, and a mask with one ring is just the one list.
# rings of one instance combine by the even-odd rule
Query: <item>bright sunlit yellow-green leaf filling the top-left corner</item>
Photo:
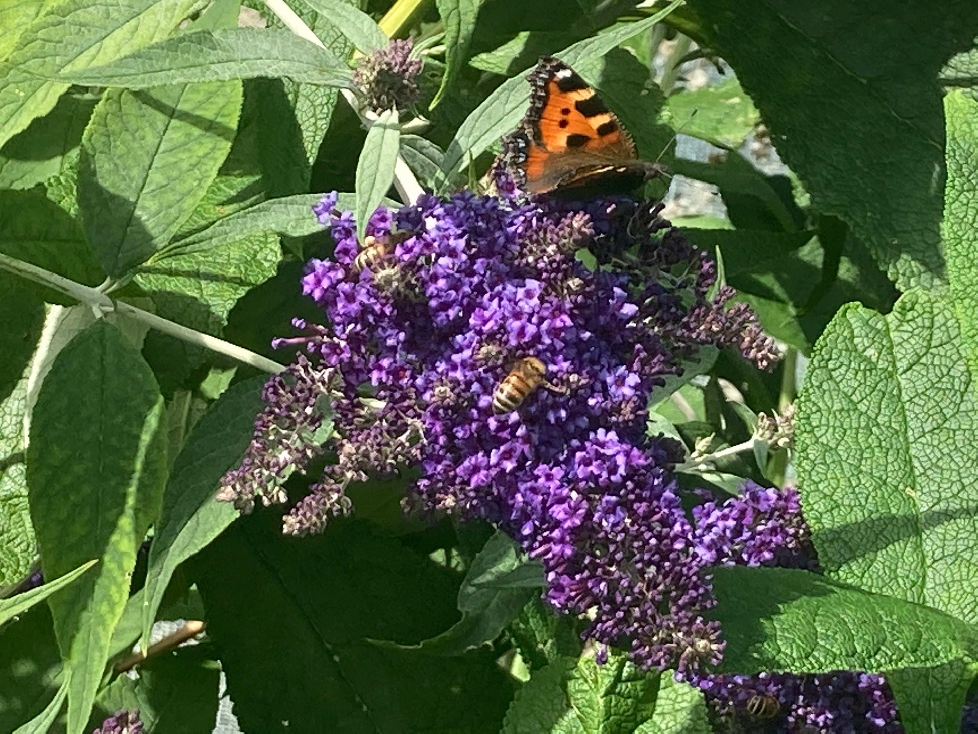
[(0, 146), (32, 119), (47, 115), (68, 85), (59, 72), (111, 62), (163, 38), (194, 6), (193, 0), (67, 0), (24, 29), (0, 65)]

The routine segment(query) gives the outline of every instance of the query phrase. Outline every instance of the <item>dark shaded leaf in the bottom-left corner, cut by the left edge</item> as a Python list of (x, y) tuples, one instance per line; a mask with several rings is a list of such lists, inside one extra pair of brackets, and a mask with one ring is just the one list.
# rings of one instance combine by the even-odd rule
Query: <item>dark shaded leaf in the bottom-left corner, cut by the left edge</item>
[(14, 731), (24, 722), (37, 719), (58, 695), (63, 682), (46, 604), (0, 629), (0, 731)]

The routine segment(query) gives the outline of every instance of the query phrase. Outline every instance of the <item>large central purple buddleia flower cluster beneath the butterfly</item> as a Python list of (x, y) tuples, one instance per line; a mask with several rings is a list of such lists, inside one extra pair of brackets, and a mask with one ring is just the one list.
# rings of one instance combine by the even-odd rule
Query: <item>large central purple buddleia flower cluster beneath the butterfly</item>
[[(334, 195), (314, 211), (335, 250), (308, 263), (302, 289), (325, 325), (298, 322), (277, 343), (300, 357), (266, 390), (222, 497), (243, 509), (284, 502), (284, 476), (328, 452), (283, 526), (318, 532), (350, 511), (350, 482), (413, 467), (408, 511), (503, 528), (543, 564), (550, 604), (587, 619), (599, 650), (623, 648), (644, 667), (718, 662), (703, 555), (672, 474), (683, 448), (646, 431), (652, 391), (702, 344), (773, 358), (752, 314), (733, 306), (727, 318), (723, 297), (710, 297), (709, 257), (658, 203), (627, 197), (422, 196), (378, 208), (367, 255)], [(545, 378), (494, 410), (528, 357)], [(327, 392), (333, 434), (317, 445), (309, 422)]]

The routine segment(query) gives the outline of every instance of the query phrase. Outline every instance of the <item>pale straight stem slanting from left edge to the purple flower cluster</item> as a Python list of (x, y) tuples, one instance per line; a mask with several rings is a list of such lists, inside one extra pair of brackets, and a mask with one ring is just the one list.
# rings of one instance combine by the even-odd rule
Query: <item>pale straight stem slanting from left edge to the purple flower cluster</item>
[(201, 334), (199, 331), (182, 326), (169, 319), (164, 319), (155, 313), (144, 311), (142, 308), (137, 308), (123, 300), (113, 300), (97, 288), (76, 283), (57, 273), (52, 273), (49, 270), (31, 265), (29, 262), (23, 262), (3, 253), (0, 253), (0, 269), (12, 272), (15, 275), (20, 275), (22, 278), (39, 283), (42, 286), (53, 288), (70, 298), (74, 298), (90, 306), (101, 315), (112, 312), (117, 313), (151, 326), (164, 334), (169, 334), (171, 337), (175, 337), (182, 342), (197, 344), (205, 349), (224, 354), (243, 364), (251, 365), (265, 372), (275, 374), (286, 369), (284, 365), (274, 362), (268, 357), (263, 357), (261, 354), (255, 354), (253, 351), (237, 344), (225, 342), (223, 339), (211, 337), (209, 334)]

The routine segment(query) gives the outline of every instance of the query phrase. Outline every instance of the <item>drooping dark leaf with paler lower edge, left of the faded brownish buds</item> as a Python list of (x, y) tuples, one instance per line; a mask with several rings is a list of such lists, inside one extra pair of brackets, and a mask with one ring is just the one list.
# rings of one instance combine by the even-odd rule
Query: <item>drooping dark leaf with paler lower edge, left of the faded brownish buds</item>
[(150, 547), (142, 647), (163, 592), (176, 568), (198, 553), (238, 517), (229, 502), (214, 498), (224, 473), (235, 467), (251, 439), (255, 416), (261, 412), (262, 375), (227, 390), (204, 413), (170, 472), (162, 509)]

